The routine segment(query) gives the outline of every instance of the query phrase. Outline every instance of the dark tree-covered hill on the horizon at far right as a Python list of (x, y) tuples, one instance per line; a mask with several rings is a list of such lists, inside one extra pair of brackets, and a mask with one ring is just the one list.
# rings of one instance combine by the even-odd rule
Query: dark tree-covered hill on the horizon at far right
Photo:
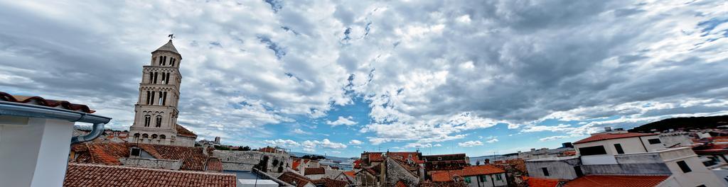
[(635, 133), (652, 133), (653, 130), (662, 132), (670, 129), (695, 129), (695, 128), (716, 128), (721, 125), (728, 125), (728, 115), (706, 116), (706, 117), (673, 117), (656, 122), (650, 122), (630, 129)]

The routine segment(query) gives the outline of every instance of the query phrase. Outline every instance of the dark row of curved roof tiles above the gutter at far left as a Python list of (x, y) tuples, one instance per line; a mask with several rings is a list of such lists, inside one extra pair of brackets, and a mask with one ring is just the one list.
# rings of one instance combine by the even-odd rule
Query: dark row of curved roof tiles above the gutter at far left
[(34, 105), (40, 105), (43, 107), (55, 107), (55, 108), (62, 108), (62, 109), (79, 111), (79, 112), (86, 112), (86, 113), (96, 112), (94, 110), (89, 109), (89, 107), (84, 104), (73, 104), (71, 102), (63, 101), (63, 100), (44, 99), (40, 96), (17, 96), (17, 95), (13, 96), (13, 95), (7, 94), (2, 91), (0, 91), (0, 101), (9, 101), (9, 102), (16, 102), (16, 103), (23, 103), (23, 104), (34, 104)]

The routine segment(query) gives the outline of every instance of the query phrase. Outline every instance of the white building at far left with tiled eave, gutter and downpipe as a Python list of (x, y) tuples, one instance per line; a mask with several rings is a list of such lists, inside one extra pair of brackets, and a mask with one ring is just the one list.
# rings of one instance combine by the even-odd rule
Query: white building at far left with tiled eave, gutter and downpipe
[[(0, 186), (62, 186), (71, 144), (103, 132), (108, 117), (86, 105), (0, 92)], [(75, 122), (92, 123), (71, 137)]]

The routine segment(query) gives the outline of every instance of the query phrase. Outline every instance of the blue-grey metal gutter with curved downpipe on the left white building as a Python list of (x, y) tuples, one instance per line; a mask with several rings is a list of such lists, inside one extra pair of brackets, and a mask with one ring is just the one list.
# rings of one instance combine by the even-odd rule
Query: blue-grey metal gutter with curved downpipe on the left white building
[(103, 132), (103, 126), (111, 121), (111, 117), (92, 115), (86, 112), (78, 112), (68, 109), (45, 107), (36, 104), (22, 104), (9, 101), (0, 101), (0, 115), (50, 118), (56, 120), (68, 120), (71, 122), (87, 122), (93, 124), (91, 133), (84, 136), (74, 136), (73, 138), (71, 138), (71, 144), (82, 143), (84, 141), (92, 141), (93, 139), (98, 138), (98, 136), (100, 136)]

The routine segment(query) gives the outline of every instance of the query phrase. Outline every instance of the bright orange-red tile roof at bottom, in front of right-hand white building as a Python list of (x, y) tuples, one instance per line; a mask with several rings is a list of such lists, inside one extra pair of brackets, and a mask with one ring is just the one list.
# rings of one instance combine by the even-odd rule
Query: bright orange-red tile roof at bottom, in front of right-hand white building
[(563, 187), (652, 187), (668, 179), (667, 175), (586, 175), (567, 182)]

